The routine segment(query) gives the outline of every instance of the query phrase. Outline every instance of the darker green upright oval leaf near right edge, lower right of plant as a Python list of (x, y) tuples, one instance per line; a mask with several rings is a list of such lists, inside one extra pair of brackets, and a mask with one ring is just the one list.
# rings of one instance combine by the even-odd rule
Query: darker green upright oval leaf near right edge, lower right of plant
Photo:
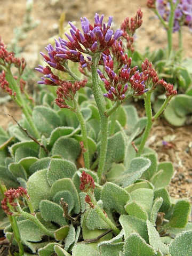
[(185, 199), (178, 201), (174, 206), (169, 226), (173, 228), (184, 228), (187, 225), (189, 213), (190, 203)]

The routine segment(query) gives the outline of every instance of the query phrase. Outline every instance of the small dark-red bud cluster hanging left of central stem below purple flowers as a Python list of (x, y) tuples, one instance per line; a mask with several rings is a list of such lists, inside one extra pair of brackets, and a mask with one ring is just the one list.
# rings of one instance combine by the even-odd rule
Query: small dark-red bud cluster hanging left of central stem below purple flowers
[(71, 108), (67, 103), (67, 101), (71, 101), (74, 99), (75, 93), (80, 89), (85, 87), (87, 83), (87, 79), (84, 79), (82, 81), (75, 81), (74, 84), (72, 84), (69, 81), (62, 81), (60, 84), (60, 87), (58, 87), (56, 93), (57, 93), (57, 99), (55, 99), (55, 103), (60, 108)]

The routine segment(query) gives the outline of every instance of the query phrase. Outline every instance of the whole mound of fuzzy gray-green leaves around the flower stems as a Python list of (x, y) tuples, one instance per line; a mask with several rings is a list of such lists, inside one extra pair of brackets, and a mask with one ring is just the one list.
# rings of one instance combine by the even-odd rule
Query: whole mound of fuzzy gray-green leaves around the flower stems
[[(38, 250), (40, 256), (54, 253), (58, 256), (188, 256), (192, 230), (188, 223), (190, 204), (185, 199), (172, 203), (166, 189), (174, 172), (173, 165), (169, 162), (158, 163), (157, 155), (147, 148), (141, 157), (135, 157), (131, 145), (133, 140), (139, 145), (146, 118), (139, 118), (133, 106), (121, 106), (115, 123), (113, 117), (110, 118), (106, 180), (101, 185), (95, 171), (101, 133), (98, 109), (82, 93), (79, 102), (86, 119), (90, 165), (94, 166), (93, 170), (86, 170), (81, 166), (79, 142), (82, 141), (82, 134), (75, 113), (48, 107), (54, 99), (53, 95), (46, 97), (42, 93), (41, 97), (45, 106), (35, 107), (33, 118), (42, 134), (39, 142), (47, 151), (22, 131), (18, 132), (15, 126), (9, 129), (16, 142), (9, 144), (11, 156), (7, 157), (4, 148), (0, 151), (0, 179), (7, 188), (27, 188), (38, 220), (53, 232), (55, 238), (43, 242), (43, 231), (34, 222), (19, 217), (23, 245), (33, 253)], [(26, 120), (22, 122), (25, 123)], [(29, 125), (26, 127), (30, 131)], [(15, 133), (18, 133), (17, 136)], [(4, 143), (8, 138), (9, 134), (0, 130), (0, 141)], [(97, 242), (79, 242), (97, 238), (110, 229), (97, 211), (85, 202), (86, 193), (79, 189), (82, 171), (93, 177), (94, 195), (106, 216), (115, 225), (120, 223), (121, 233), (118, 235), (113, 236), (113, 232), (109, 232)], [(61, 198), (68, 204), (71, 217), (82, 213), (75, 222), (63, 217)], [(29, 212), (25, 201), (23, 205), (23, 210)], [(157, 223), (159, 214), (165, 214), (166, 219), (162, 219), (160, 224)], [(161, 234), (167, 230), (170, 235), (161, 237), (157, 230)], [(11, 226), (5, 228), (5, 234), (11, 239)], [(175, 239), (173, 235), (177, 235)], [(15, 239), (13, 243), (17, 245)], [(184, 243), (186, 246), (183, 246)]]

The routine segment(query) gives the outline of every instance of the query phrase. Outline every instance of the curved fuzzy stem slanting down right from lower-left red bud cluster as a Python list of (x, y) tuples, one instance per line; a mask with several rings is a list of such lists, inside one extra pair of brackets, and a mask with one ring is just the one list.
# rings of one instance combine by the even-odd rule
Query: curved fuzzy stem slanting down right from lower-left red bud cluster
[[(17, 202), (18, 203), (18, 202)], [(37, 217), (35, 215), (32, 215), (28, 212), (24, 212), (19, 203), (18, 203), (18, 206), (16, 206), (17, 208), (17, 211), (27, 220), (31, 220), (34, 222), (34, 224), (44, 233), (46, 234), (47, 236), (51, 236), (51, 237), (54, 237), (54, 234), (53, 232), (49, 231), (48, 229), (45, 228), (45, 226), (43, 226), (43, 224), (37, 219)], [(17, 214), (17, 213), (16, 213)], [(15, 215), (16, 215), (15, 214)]]

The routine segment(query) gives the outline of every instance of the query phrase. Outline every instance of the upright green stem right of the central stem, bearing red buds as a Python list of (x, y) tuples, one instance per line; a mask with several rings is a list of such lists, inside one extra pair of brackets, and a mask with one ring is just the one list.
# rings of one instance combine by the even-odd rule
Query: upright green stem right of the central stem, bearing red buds
[(143, 148), (145, 147), (145, 143), (149, 137), (149, 133), (151, 130), (151, 126), (153, 125), (153, 121), (152, 121), (152, 109), (151, 109), (151, 101), (150, 101), (150, 97), (151, 97), (151, 93), (147, 92), (144, 95), (144, 100), (145, 100), (145, 110), (146, 110), (146, 116), (147, 116), (147, 125), (145, 128), (145, 132), (143, 134), (138, 152), (137, 152), (137, 157), (141, 156)]

